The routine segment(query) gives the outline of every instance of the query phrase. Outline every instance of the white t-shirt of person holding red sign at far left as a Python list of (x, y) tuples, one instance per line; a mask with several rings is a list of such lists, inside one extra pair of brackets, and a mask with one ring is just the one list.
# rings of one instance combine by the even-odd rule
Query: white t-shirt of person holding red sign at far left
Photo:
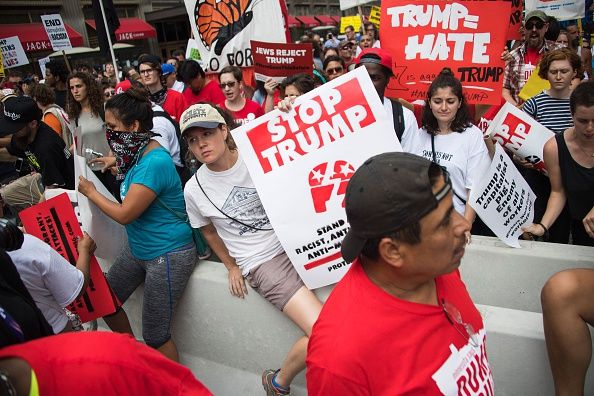
[(7, 253), (54, 333), (64, 330), (68, 317), (62, 308), (80, 293), (83, 273), (32, 235), (25, 234), (23, 246)]

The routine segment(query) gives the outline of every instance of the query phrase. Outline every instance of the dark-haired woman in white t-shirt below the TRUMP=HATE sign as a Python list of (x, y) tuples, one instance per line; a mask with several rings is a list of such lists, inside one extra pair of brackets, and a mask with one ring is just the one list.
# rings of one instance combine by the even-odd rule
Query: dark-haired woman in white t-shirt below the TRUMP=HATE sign
[[(480, 129), (472, 124), (462, 84), (444, 68), (427, 91), (422, 128), (402, 136), (404, 151), (423, 156), (446, 168), (454, 190), (454, 208), (472, 224), (468, 205), (474, 181), (490, 159)], [(468, 236), (469, 237), (469, 236)]]

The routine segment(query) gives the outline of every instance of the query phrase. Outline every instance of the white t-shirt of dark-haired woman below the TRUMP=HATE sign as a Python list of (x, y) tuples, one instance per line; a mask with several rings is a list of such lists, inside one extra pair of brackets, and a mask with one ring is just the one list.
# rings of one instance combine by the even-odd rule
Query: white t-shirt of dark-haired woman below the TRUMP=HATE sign
[[(403, 135), (402, 149), (433, 160), (431, 135), (425, 128), (419, 129), (417, 133)], [(466, 201), (467, 190), (472, 189), (474, 181), (480, 176), (477, 172), (490, 162), (480, 129), (472, 125), (462, 133), (451, 132), (435, 136), (435, 155), (436, 162), (448, 170), (456, 194)], [(453, 199), (456, 211), (463, 215), (464, 202), (456, 196)]]

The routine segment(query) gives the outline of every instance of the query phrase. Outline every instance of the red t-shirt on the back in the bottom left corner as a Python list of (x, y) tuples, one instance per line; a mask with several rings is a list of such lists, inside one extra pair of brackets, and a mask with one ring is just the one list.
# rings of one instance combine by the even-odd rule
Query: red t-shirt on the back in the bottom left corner
[(40, 395), (212, 395), (190, 369), (130, 335), (63, 333), (0, 350), (9, 356), (29, 363)]

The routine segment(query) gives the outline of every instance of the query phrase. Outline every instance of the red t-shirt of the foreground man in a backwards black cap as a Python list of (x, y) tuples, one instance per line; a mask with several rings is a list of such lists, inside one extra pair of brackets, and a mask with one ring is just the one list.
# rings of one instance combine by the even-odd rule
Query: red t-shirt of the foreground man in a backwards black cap
[(308, 395), (493, 395), (483, 321), (458, 271), (435, 284), (476, 330), (476, 346), (441, 306), (386, 293), (355, 260), (313, 327)]

